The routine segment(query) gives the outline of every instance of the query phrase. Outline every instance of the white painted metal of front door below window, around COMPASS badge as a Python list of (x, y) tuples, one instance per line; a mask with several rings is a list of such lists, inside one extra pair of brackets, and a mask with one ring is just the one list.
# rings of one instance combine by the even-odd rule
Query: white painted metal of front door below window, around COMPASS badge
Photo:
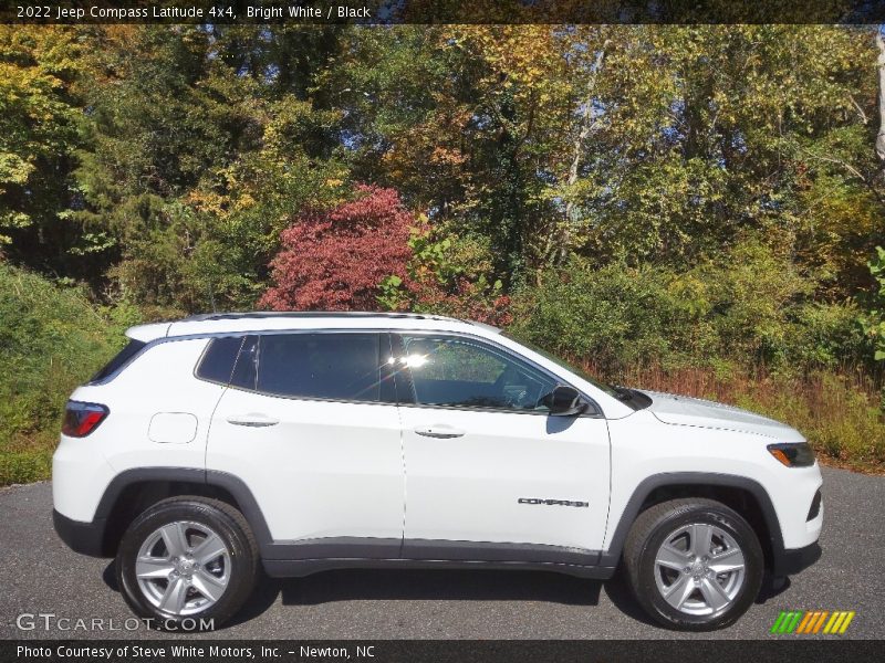
[[(601, 548), (608, 515), (604, 419), (421, 407), (404, 407), (400, 413), (407, 540)], [(437, 439), (415, 432), (428, 427), (465, 434)]]

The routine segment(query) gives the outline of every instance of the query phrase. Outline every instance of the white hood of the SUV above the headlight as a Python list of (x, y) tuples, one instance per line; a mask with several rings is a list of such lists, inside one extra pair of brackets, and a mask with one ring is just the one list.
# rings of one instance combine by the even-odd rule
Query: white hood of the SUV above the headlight
[(761, 414), (715, 401), (644, 391), (652, 398), (648, 410), (664, 423), (766, 435), (777, 442), (804, 442), (795, 429)]

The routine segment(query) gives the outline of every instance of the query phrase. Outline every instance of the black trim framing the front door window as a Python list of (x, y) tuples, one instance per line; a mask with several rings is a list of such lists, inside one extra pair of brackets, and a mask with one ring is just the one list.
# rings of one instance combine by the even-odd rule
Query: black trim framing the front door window
[[(434, 336), (441, 338), (446, 337), (465, 338), (473, 343), (477, 343), (477, 345), (479, 346), (483, 345), (488, 346), (496, 352), (501, 354), (509, 359), (512, 358), (517, 362), (522, 362), (531, 366), (534, 370), (550, 378), (554, 385), (565, 385), (568, 387), (572, 387), (573, 389), (575, 389), (581, 394), (581, 398), (589, 403), (587, 411), (579, 414), (579, 417), (584, 419), (605, 419), (605, 413), (602, 411), (602, 408), (600, 408), (600, 404), (583, 389), (579, 389), (571, 382), (563, 380), (561, 376), (558, 376), (551, 370), (544, 368), (543, 366), (540, 366), (538, 362), (532, 361), (528, 357), (514, 352), (511, 348), (508, 348), (499, 343), (494, 343), (489, 338), (485, 338), (482, 336), (475, 336), (473, 334), (466, 334), (464, 332), (439, 332), (433, 329), (397, 329), (391, 333), (391, 338), (393, 345), (399, 351), (405, 350), (405, 343), (403, 340), (403, 336)], [(506, 410), (502, 408), (488, 408), (482, 406), (440, 406), (434, 403), (418, 403), (415, 402), (415, 390), (414, 390), (414, 382), (412, 379), (412, 370), (406, 366), (397, 370), (396, 376), (397, 376), (397, 381), (396, 381), (397, 397), (400, 394), (400, 392), (406, 390), (408, 390), (407, 393), (412, 396), (410, 402), (406, 402), (404, 399), (397, 398), (397, 404), (403, 408), (431, 408), (435, 410), (460, 410), (460, 411), (471, 411), (471, 412), (498, 412), (501, 414), (530, 414), (534, 417), (539, 415), (550, 417), (550, 413), (543, 410)], [(402, 379), (400, 376), (403, 376)]]

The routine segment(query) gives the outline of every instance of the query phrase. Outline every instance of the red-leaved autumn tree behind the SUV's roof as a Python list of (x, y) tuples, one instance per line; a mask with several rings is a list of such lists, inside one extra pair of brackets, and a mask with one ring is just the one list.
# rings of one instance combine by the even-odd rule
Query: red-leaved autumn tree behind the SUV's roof
[(300, 214), (281, 234), (271, 262), (275, 285), (259, 306), (274, 311), (375, 311), (378, 285), (407, 280), (415, 223), (395, 189), (360, 185), (356, 198), (332, 210)]

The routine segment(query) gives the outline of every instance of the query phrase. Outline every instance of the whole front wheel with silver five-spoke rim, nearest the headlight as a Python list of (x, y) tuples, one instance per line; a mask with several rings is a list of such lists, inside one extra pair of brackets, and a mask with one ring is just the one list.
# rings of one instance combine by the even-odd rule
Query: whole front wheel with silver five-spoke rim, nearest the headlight
[(643, 512), (624, 561), (633, 592), (658, 623), (687, 631), (732, 624), (759, 593), (764, 558), (752, 527), (705, 498), (674, 499)]

